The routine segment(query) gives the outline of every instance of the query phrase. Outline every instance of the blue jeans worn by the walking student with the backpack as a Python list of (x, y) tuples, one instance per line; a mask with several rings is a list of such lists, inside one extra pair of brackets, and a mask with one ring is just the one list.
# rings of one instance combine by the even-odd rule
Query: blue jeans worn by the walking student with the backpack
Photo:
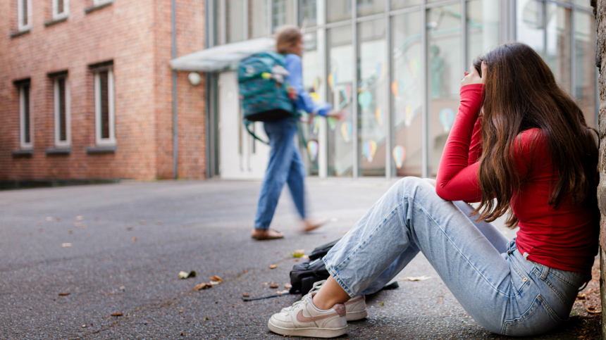
[(288, 184), (297, 212), (305, 218), (304, 177), (305, 166), (295, 143), (297, 118), (289, 117), (273, 122), (264, 122), (269, 137), (269, 164), (261, 184), (259, 206), (256, 208), (254, 227), (268, 229), (284, 184)]

